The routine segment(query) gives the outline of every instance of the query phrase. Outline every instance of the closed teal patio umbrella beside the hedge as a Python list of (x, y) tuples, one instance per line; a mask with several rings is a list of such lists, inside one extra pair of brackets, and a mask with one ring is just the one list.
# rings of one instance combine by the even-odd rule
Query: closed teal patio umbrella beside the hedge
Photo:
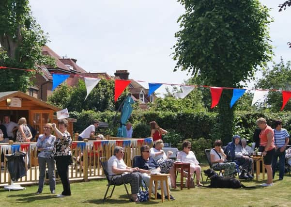
[(131, 105), (134, 103), (134, 100), (131, 96), (127, 96), (123, 103), (123, 108), (121, 110), (121, 118), (120, 118), (120, 127), (117, 131), (117, 137), (126, 137), (126, 122), (130, 117), (130, 114), (132, 112)]

